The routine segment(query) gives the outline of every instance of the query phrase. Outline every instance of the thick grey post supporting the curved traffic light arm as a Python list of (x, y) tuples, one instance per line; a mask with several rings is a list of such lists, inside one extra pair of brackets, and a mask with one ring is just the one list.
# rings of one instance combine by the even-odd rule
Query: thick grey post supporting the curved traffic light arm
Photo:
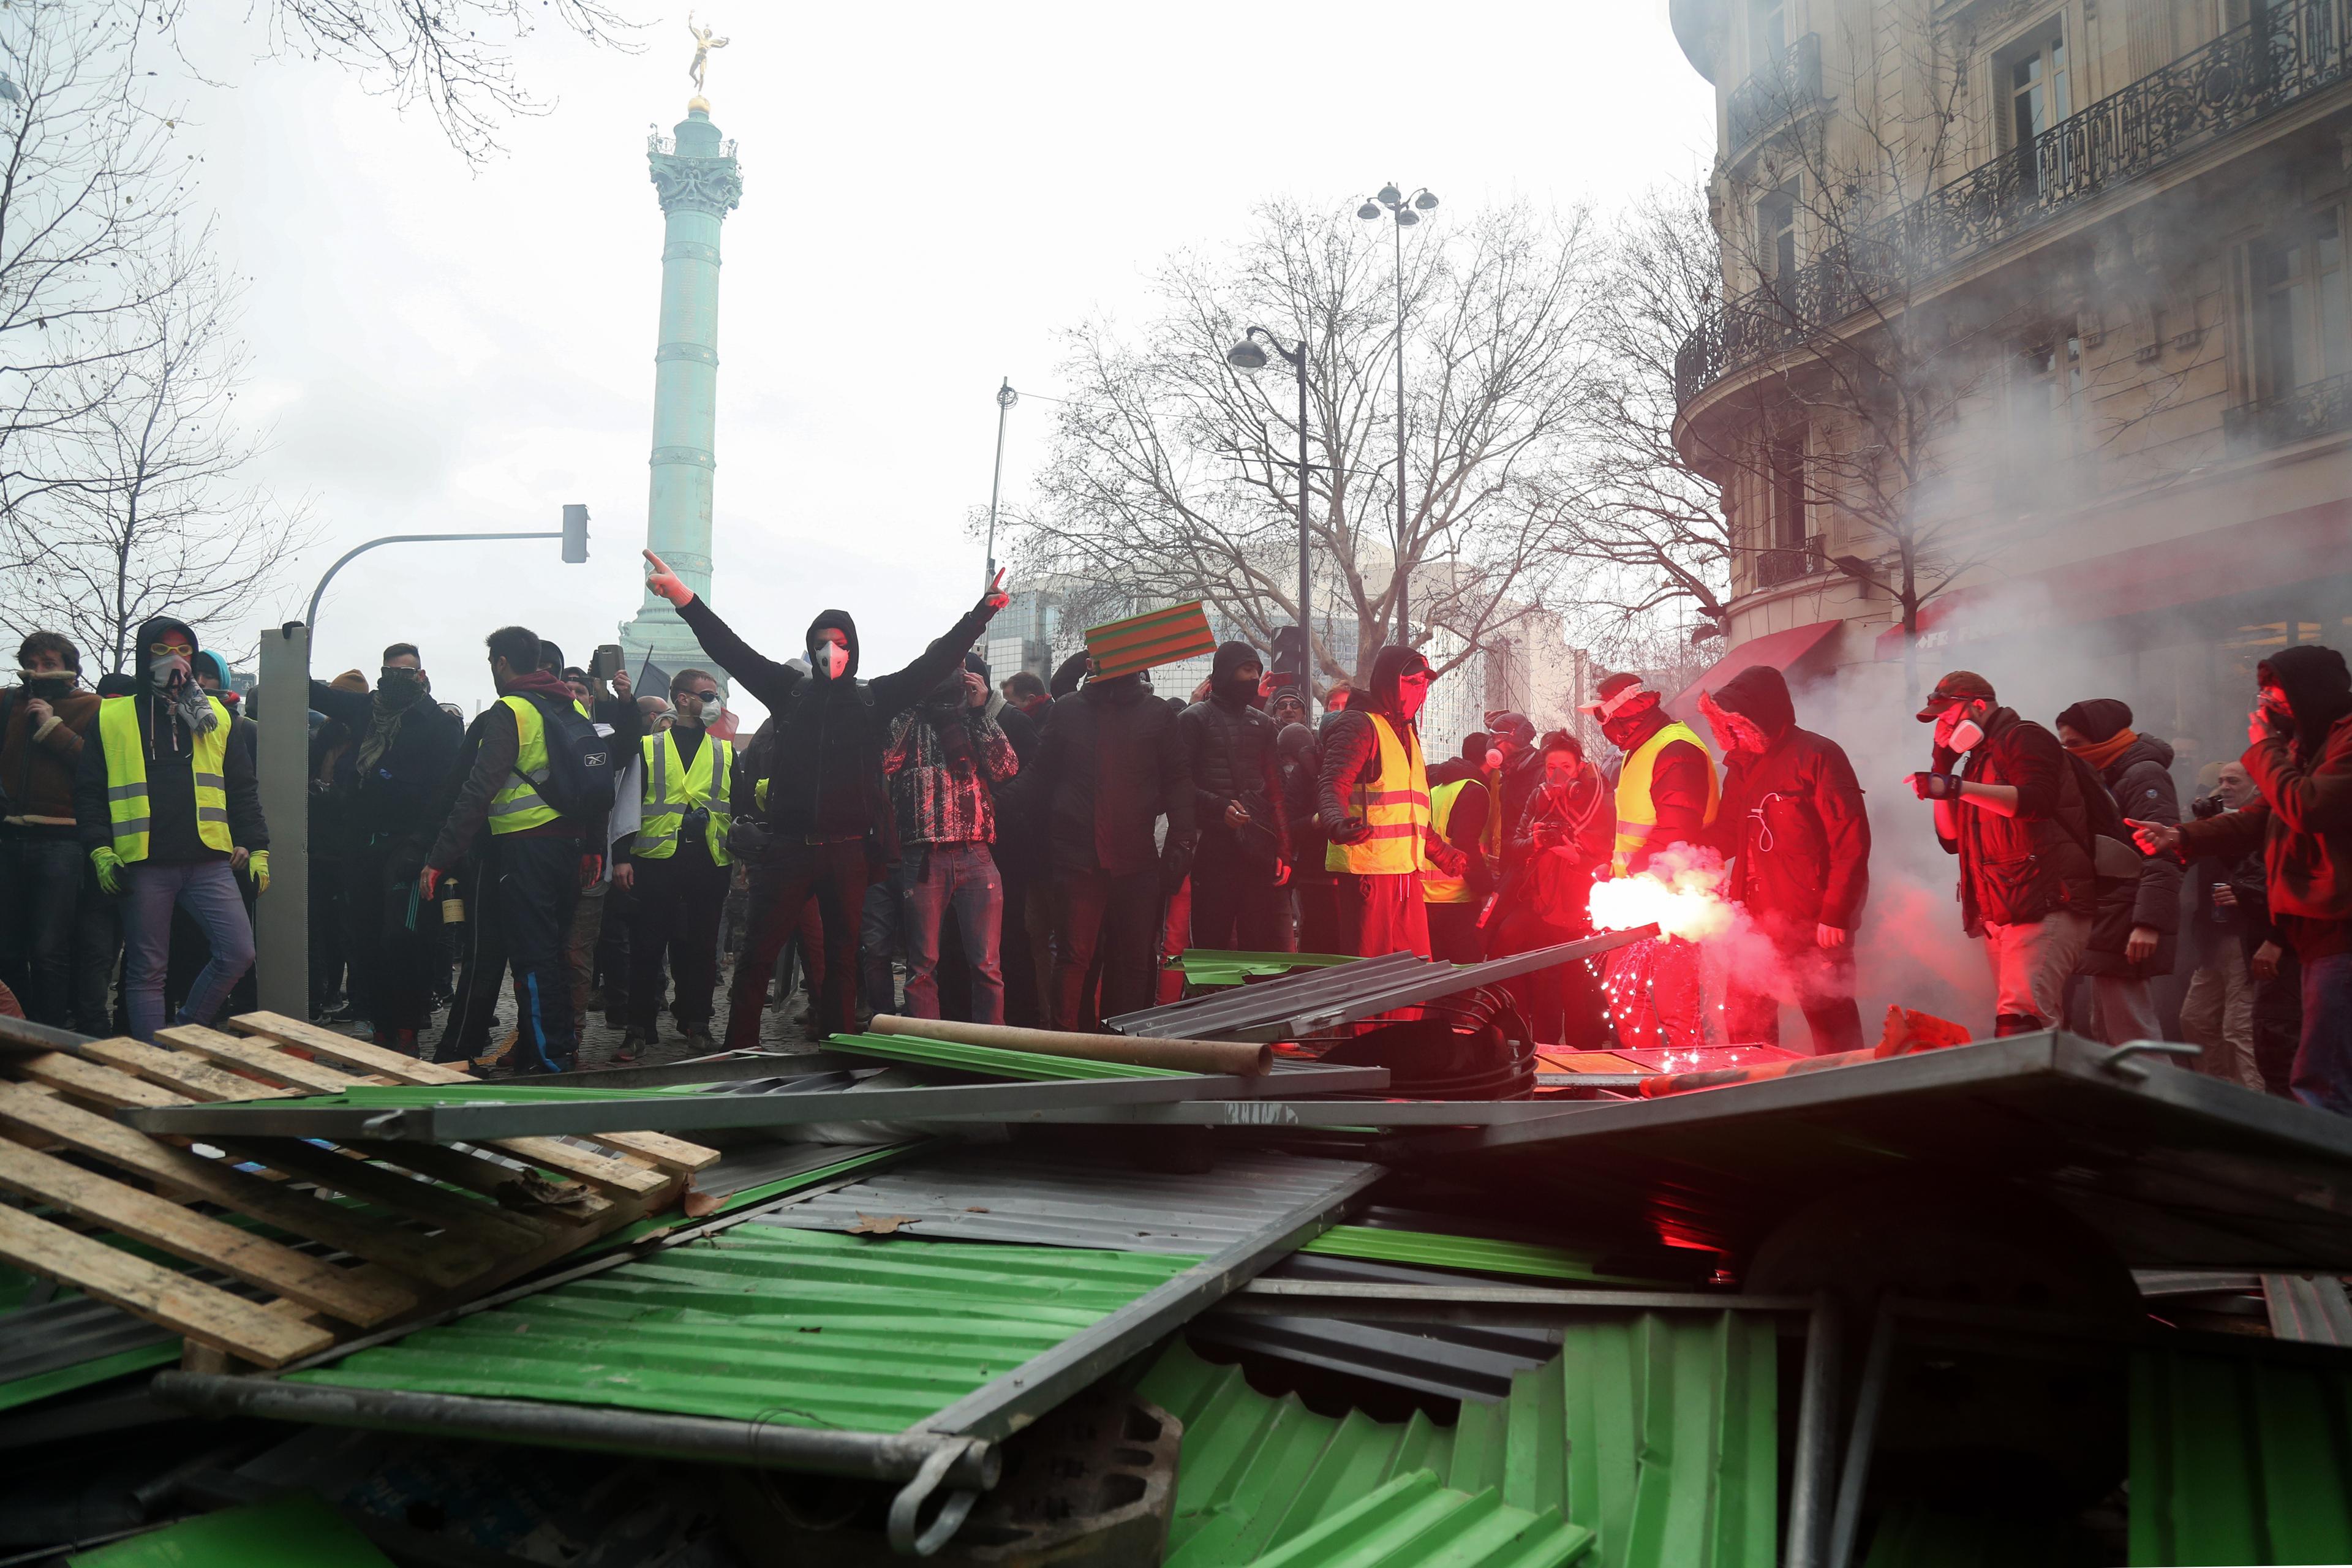
[(263, 628), (259, 665), (268, 696), (256, 762), (261, 816), (270, 825), (270, 891), (254, 900), (254, 985), (266, 1011), (308, 1018), (310, 724), (296, 719), (310, 712), (310, 628), (301, 621)]

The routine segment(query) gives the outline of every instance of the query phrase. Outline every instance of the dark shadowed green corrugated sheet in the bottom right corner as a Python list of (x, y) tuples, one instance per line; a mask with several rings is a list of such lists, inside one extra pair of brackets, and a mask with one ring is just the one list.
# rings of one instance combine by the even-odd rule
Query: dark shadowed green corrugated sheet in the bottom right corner
[(2352, 1375), (2307, 1356), (2131, 1359), (2133, 1563), (2352, 1563)]

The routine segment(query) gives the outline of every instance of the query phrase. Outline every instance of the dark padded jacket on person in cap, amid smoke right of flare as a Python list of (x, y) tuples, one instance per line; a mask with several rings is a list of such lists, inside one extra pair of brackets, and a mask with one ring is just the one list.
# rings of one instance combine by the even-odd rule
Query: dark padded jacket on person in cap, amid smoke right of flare
[(2018, 792), (2016, 816), (1962, 804), (1959, 837), (1943, 839), (1945, 853), (1959, 856), (1962, 929), (1983, 936), (1987, 924), (2023, 926), (2053, 910), (2096, 917), (2091, 818), (2058, 736), (2016, 708), (1994, 708), (1959, 776)]

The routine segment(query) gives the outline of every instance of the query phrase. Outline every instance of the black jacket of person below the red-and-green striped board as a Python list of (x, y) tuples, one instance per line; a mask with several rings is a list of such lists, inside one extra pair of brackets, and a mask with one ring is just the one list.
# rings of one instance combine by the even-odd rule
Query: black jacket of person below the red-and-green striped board
[(1192, 766), (1176, 715), (1136, 675), (1094, 679), (1056, 698), (1037, 766), (1023, 769), (1014, 790), (1040, 811), (1056, 872), (1150, 870), (1162, 858), (1155, 844), (1162, 816), (1169, 872), (1190, 860)]

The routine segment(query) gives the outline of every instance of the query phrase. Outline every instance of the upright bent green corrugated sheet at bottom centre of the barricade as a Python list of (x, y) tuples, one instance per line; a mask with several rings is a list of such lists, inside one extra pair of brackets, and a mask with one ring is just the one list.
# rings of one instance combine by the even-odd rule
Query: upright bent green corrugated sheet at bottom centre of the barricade
[(1597, 1533), (1590, 1568), (1769, 1568), (1778, 1556), (1776, 1340), (1740, 1314), (1630, 1314), (1451, 1429), (1315, 1415), (1176, 1347), (1143, 1380), (1185, 1422), (1169, 1568), (1247, 1563), (1397, 1474)]

